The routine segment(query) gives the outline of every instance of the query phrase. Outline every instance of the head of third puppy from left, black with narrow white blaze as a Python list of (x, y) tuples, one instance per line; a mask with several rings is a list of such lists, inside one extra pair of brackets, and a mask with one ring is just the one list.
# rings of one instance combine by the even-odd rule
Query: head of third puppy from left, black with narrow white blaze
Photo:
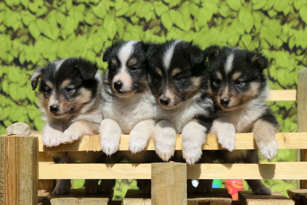
[(174, 109), (203, 88), (204, 54), (192, 42), (171, 40), (148, 49), (150, 88), (157, 103)]

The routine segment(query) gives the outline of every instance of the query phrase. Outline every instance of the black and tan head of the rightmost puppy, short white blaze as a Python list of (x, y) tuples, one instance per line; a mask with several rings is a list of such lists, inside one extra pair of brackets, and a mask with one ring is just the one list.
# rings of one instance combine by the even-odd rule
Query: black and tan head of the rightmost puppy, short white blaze
[(235, 110), (266, 88), (263, 70), (268, 59), (261, 53), (219, 46), (209, 46), (204, 53), (210, 73), (208, 93), (223, 110)]

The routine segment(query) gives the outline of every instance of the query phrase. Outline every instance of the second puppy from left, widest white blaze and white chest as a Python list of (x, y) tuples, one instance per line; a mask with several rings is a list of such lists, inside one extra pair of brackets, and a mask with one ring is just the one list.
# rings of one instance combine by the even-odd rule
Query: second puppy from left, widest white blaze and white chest
[[(147, 79), (147, 43), (114, 42), (103, 54), (108, 68), (103, 76), (103, 121), (99, 129), (101, 149), (107, 155), (119, 148), (122, 134), (130, 134), (130, 162), (145, 163), (149, 152), (143, 151), (155, 126), (155, 101)], [(140, 153), (141, 152), (141, 153)], [(150, 193), (150, 180), (138, 180)]]

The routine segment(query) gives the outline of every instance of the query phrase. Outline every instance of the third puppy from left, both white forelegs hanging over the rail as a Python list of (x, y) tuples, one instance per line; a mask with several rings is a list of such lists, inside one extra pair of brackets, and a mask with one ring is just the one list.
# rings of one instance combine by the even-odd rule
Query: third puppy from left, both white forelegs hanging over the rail
[(213, 121), (213, 102), (207, 94), (208, 74), (203, 51), (182, 40), (149, 49), (150, 88), (157, 106), (154, 140), (157, 155), (168, 161), (174, 155), (176, 134), (182, 134), (182, 156), (192, 165)]

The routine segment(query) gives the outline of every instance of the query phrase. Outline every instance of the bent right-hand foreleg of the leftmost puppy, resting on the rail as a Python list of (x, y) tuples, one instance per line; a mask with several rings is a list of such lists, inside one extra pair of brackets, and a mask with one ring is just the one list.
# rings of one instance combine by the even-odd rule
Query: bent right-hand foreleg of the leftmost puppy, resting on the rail
[(72, 143), (78, 140), (82, 135), (95, 135), (96, 129), (90, 123), (84, 120), (78, 120), (72, 123), (64, 132), (60, 143)]

